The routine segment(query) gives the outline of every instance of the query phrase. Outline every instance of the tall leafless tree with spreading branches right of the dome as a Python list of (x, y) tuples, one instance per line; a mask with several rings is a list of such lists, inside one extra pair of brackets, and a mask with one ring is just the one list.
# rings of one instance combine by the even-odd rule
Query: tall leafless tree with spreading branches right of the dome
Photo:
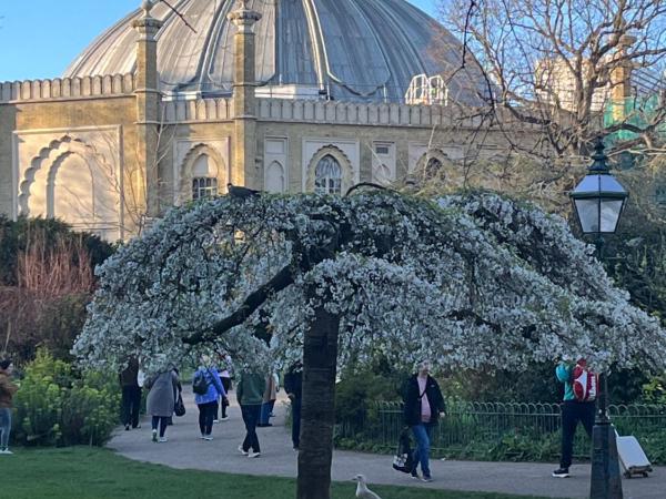
[[(666, 1), (441, 0), (440, 7), (483, 68), (492, 116), (515, 147), (586, 154), (602, 130), (615, 133), (616, 151), (659, 147)], [(461, 18), (463, 11), (471, 14)], [(517, 139), (516, 123), (535, 140)]]

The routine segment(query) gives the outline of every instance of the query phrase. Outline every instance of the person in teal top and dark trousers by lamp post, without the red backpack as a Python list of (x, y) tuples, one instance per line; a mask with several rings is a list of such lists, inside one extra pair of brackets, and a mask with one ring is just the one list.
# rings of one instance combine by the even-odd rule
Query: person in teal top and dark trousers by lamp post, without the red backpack
[[(576, 363), (583, 367), (586, 366), (584, 358)], [(556, 478), (569, 477), (569, 466), (572, 466), (572, 456), (574, 452), (574, 436), (578, 421), (583, 424), (583, 428), (592, 438), (592, 427), (594, 426), (595, 401), (578, 401), (574, 395), (572, 384), (573, 370), (575, 365), (559, 363), (555, 368), (555, 377), (564, 384), (564, 399), (562, 404), (562, 458), (559, 459), (559, 468), (553, 471)]]

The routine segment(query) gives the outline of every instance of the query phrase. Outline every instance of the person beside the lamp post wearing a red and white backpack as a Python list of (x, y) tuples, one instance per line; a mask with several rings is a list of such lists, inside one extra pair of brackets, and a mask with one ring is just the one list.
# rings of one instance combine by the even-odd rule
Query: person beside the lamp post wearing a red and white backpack
[(587, 368), (587, 361), (579, 358), (575, 365), (559, 363), (555, 368), (557, 380), (564, 384), (562, 404), (562, 458), (559, 468), (553, 471), (556, 478), (569, 477), (574, 437), (578, 422), (583, 425), (587, 436), (592, 438), (594, 426), (595, 399), (598, 387), (597, 375)]

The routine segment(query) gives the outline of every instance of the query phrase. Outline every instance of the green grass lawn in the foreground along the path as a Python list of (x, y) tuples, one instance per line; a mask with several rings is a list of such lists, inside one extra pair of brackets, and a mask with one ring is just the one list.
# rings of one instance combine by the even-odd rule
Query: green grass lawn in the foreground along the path
[[(0, 497), (12, 499), (292, 499), (295, 480), (174, 470), (98, 448), (14, 448), (0, 456)], [(334, 483), (333, 498), (352, 499), (355, 485)], [(383, 499), (515, 499), (518, 496), (373, 486)], [(521, 496), (525, 499), (525, 496)]]

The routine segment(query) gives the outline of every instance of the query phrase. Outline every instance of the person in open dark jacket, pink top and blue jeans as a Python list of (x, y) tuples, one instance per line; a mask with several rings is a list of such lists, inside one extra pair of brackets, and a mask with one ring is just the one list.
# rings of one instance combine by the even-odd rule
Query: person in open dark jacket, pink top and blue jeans
[(445, 410), (442, 390), (435, 378), (430, 376), (430, 361), (422, 361), (418, 373), (407, 380), (404, 405), (405, 425), (412, 428), (416, 439), (412, 477), (418, 478), (417, 467), (421, 465), (423, 481), (432, 481), (430, 446), (440, 414), (444, 414)]

